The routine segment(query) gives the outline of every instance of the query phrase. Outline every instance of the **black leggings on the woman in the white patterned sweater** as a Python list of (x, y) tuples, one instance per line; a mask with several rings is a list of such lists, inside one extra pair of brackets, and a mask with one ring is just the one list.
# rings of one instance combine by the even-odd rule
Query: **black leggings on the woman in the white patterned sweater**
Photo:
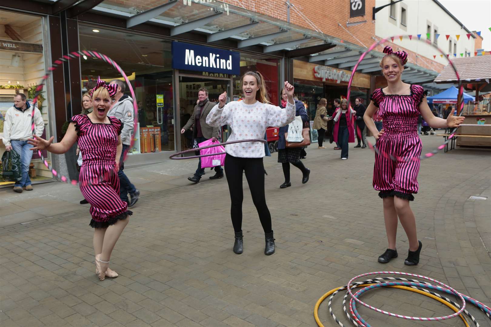
[(234, 230), (242, 230), (242, 172), (246, 172), (252, 201), (256, 206), (259, 220), (265, 233), (271, 233), (271, 214), (266, 204), (264, 192), (264, 165), (263, 158), (238, 158), (227, 153), (225, 155), (225, 174), (227, 176), (228, 190), (230, 192), (230, 216)]

